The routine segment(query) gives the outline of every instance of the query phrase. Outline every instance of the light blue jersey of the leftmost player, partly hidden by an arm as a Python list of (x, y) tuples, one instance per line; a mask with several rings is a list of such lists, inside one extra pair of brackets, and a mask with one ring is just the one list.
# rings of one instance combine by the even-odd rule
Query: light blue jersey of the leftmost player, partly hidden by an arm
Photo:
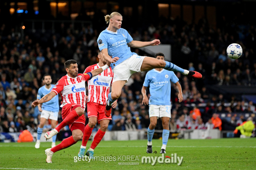
[[(48, 94), (51, 92), (52, 88), (54, 88), (54, 84), (51, 84), (51, 88), (47, 89), (44, 86), (40, 87), (38, 92), (37, 92), (37, 97), (38, 99), (41, 99), (42, 97), (44, 97), (44, 95)], [(43, 103), (42, 104), (42, 110), (46, 110), (46, 111), (53, 111), (53, 112), (56, 112), (56, 111), (59, 111), (59, 95), (57, 94), (56, 96), (54, 96), (54, 98), (52, 98), (52, 100), (46, 102), (46, 103)]]

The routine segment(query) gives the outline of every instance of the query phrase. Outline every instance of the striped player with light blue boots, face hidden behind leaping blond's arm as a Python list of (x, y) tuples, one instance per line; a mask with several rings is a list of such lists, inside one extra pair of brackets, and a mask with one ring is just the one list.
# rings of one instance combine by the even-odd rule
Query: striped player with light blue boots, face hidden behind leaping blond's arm
[[(88, 66), (84, 72), (91, 72), (94, 69), (100, 68), (106, 64), (106, 60), (103, 58), (101, 51), (98, 51), (99, 63), (92, 66)], [(88, 80), (88, 102), (87, 102), (87, 113), (89, 123), (84, 129), (84, 136), (82, 145), (80, 147), (78, 156), (84, 156), (86, 144), (88, 139), (92, 134), (92, 129), (97, 123), (100, 124), (100, 129), (94, 136), (91, 147), (87, 150), (86, 155), (90, 158), (93, 158), (94, 149), (100, 143), (102, 138), (106, 133), (108, 128), (108, 123), (112, 120), (111, 116), (106, 117), (105, 115), (105, 106), (108, 99), (108, 94), (110, 90), (110, 84), (113, 80), (113, 72), (111, 68), (104, 70), (98, 76), (93, 77), (91, 80)], [(112, 108), (116, 108), (116, 101), (112, 105)]]

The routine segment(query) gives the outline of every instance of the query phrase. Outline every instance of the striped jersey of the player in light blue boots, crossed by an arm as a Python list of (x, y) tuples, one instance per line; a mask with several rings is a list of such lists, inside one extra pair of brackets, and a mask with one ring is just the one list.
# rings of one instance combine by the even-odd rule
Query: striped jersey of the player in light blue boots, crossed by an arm
[[(84, 73), (100, 68), (99, 64), (88, 66)], [(110, 68), (88, 80), (88, 102), (106, 105), (114, 73)]]

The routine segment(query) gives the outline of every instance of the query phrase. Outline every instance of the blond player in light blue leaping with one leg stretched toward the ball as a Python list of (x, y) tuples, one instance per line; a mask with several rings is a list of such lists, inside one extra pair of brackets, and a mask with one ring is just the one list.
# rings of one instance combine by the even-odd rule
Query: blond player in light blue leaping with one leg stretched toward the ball
[(112, 92), (108, 94), (108, 102), (105, 109), (107, 117), (111, 115), (111, 106), (119, 98), (122, 87), (134, 72), (164, 68), (165, 70), (180, 72), (186, 76), (202, 78), (202, 74), (199, 72), (184, 70), (168, 61), (138, 56), (136, 53), (132, 53), (130, 47), (154, 46), (159, 45), (160, 41), (159, 39), (150, 42), (134, 41), (128, 31), (121, 28), (122, 16), (118, 12), (112, 12), (110, 16), (105, 16), (105, 20), (109, 25), (100, 33), (97, 41), (104, 59), (112, 63), (111, 68), (114, 72)]

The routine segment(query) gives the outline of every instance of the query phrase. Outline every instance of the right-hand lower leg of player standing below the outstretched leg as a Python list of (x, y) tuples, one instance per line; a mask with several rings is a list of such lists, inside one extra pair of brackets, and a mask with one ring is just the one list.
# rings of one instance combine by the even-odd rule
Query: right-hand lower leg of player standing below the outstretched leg
[(162, 125), (163, 125), (163, 133), (162, 133), (162, 148), (160, 153), (166, 153), (166, 145), (168, 142), (168, 138), (169, 138), (169, 121), (170, 121), (170, 117), (162, 117)]

